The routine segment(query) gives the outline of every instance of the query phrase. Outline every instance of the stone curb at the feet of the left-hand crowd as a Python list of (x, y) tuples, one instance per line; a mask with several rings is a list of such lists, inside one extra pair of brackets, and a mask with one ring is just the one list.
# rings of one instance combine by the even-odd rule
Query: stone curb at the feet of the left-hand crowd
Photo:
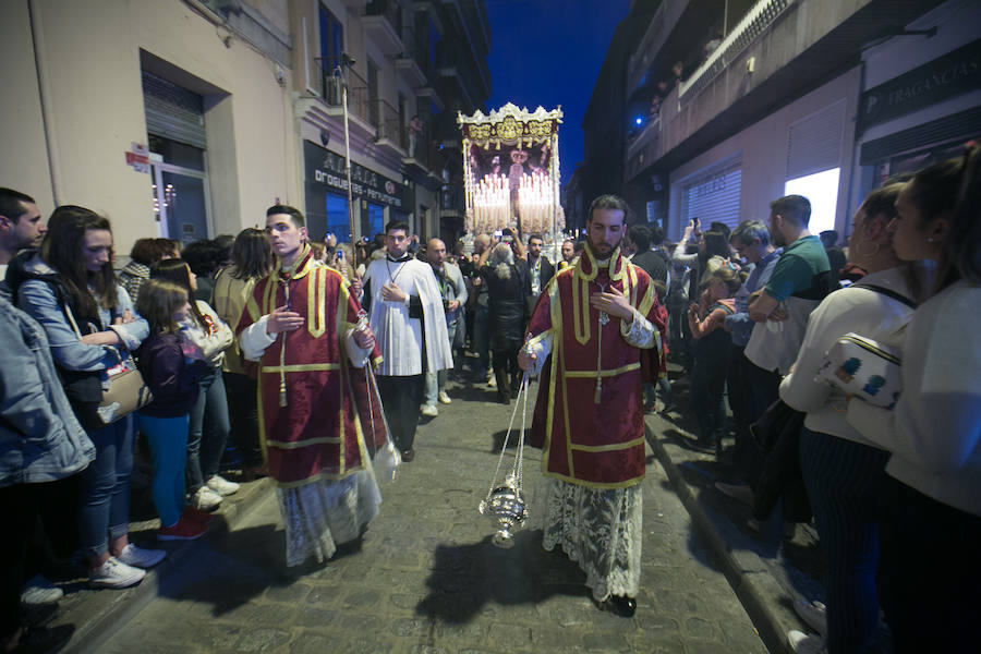
[(167, 558), (160, 565), (146, 571), (146, 577), (137, 585), (122, 591), (92, 591), (68, 610), (59, 610), (56, 623), (75, 626), (72, 639), (61, 651), (65, 654), (98, 652), (116, 629), (133, 619), (158, 596), (161, 586), (180, 578), (181, 570), (194, 560), (195, 552), (204, 543), (232, 531), (272, 487), (272, 481), (268, 477), (242, 484), (234, 496), (221, 502), (207, 535), (196, 541), (179, 542), (175, 548), (168, 550)]

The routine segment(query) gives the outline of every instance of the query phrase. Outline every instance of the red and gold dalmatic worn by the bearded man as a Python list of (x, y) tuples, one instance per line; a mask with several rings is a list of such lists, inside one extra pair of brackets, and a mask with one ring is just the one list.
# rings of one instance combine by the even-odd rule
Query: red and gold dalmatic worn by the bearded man
[[(654, 348), (629, 344), (620, 319), (594, 308), (590, 295), (619, 290), (655, 328)], [(535, 305), (531, 343), (552, 338), (542, 372), (532, 444), (544, 448), (544, 474), (592, 488), (621, 488), (644, 479), (643, 383), (664, 374), (657, 296), (647, 274), (616, 250), (609, 267), (590, 249), (558, 272)]]

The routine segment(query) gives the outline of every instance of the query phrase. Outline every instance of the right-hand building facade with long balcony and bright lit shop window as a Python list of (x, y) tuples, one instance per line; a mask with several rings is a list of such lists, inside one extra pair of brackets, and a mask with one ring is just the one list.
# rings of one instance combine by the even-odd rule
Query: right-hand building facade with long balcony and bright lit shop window
[(981, 134), (978, 12), (665, 0), (626, 65), (620, 192), (671, 239), (692, 218), (765, 220), (790, 193), (811, 199), (811, 231), (846, 235), (876, 184)]

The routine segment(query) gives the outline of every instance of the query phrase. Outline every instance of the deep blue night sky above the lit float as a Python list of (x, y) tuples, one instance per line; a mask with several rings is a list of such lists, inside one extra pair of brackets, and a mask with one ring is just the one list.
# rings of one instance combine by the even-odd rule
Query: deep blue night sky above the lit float
[(582, 161), (582, 119), (614, 31), (630, 0), (484, 0), (491, 22), (487, 110), (561, 105), (565, 183)]

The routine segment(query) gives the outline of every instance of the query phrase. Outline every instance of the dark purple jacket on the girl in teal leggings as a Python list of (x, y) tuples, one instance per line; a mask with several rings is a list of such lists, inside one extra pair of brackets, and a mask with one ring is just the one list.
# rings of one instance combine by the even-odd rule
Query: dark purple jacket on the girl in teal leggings
[(154, 400), (140, 410), (150, 417), (186, 415), (197, 401), (203, 362), (187, 363), (181, 341), (173, 334), (152, 334), (136, 351), (136, 367), (154, 393)]

